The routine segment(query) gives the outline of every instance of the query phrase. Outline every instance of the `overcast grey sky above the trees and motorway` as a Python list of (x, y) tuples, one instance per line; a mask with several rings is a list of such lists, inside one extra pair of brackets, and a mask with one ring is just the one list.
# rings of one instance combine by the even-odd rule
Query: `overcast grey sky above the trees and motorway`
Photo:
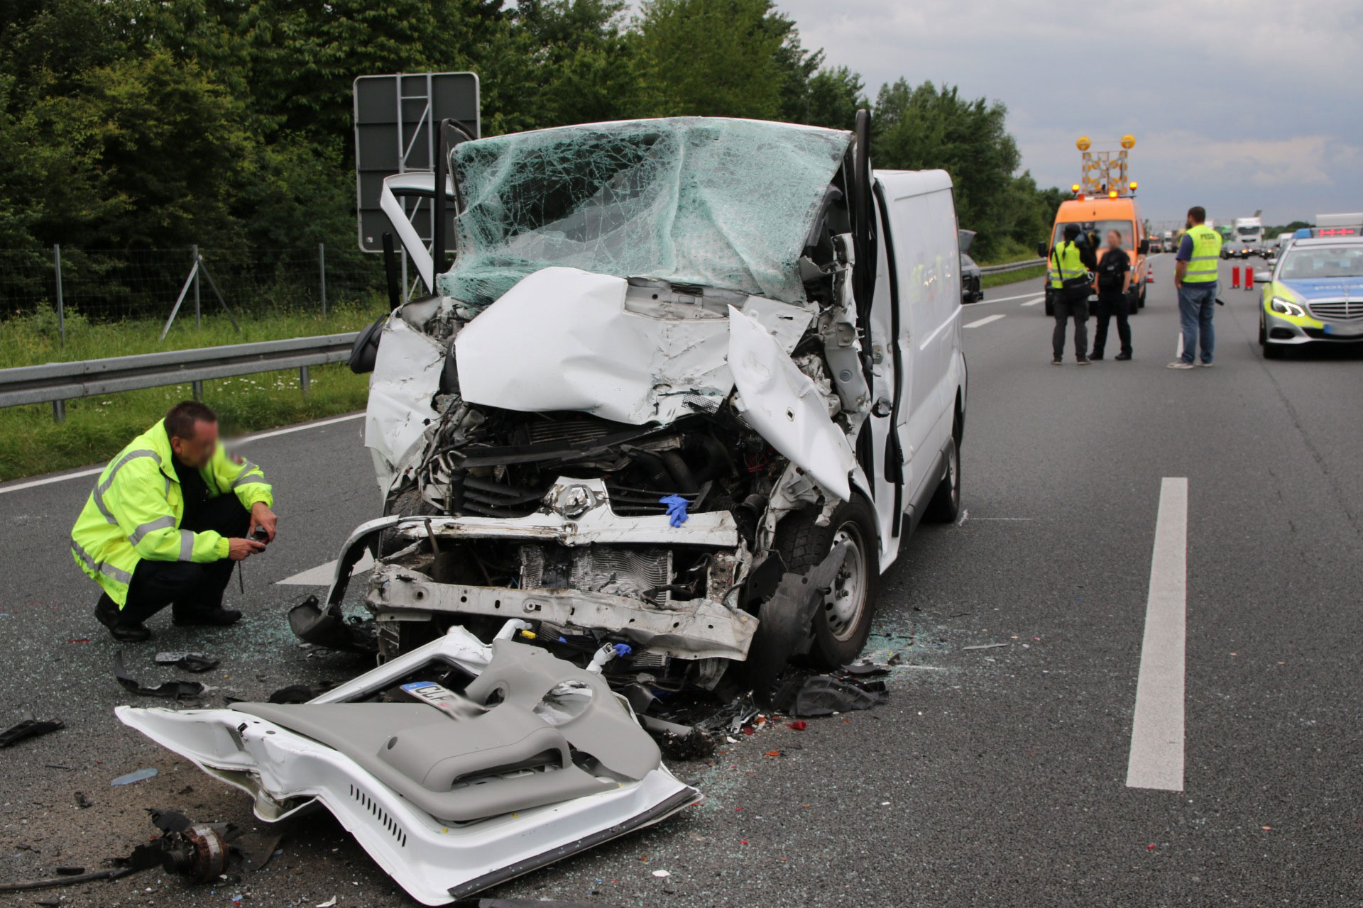
[(1002, 101), (1041, 185), (1074, 140), (1135, 135), (1142, 214), (1265, 223), (1363, 211), (1363, 3), (1356, 0), (777, 0), (808, 48), (861, 74)]

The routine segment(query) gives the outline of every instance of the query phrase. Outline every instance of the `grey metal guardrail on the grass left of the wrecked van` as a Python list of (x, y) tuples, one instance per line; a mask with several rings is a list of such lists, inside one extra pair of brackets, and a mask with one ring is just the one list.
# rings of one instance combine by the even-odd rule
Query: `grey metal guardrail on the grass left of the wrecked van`
[(57, 422), (65, 418), (65, 402), (76, 398), (192, 384), (195, 398), (202, 383), (277, 369), (297, 369), (308, 392), (308, 366), (343, 362), (358, 332), (262, 340), (200, 350), (169, 350), (135, 357), (48, 362), (41, 366), (0, 369), (0, 407), (52, 403)]

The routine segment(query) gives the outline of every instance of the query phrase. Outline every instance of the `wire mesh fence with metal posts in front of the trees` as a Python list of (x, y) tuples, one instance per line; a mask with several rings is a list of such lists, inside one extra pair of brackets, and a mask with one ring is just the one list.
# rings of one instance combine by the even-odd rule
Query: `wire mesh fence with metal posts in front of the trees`
[[(191, 279), (195, 255), (202, 257)], [(383, 261), (354, 246), (232, 250), (0, 249), (0, 323), (45, 310), (87, 321), (322, 312), (384, 291)]]

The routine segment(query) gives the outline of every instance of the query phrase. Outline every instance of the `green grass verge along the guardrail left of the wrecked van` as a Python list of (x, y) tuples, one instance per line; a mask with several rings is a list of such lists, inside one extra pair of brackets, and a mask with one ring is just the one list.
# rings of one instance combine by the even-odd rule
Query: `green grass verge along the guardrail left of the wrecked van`
[[(67, 359), (94, 359), (158, 350), (215, 347), (252, 340), (275, 340), (357, 331), (382, 313), (378, 308), (342, 309), (326, 319), (311, 314), (274, 314), (241, 323), (241, 334), (226, 319), (204, 319), (203, 327), (176, 324), (165, 344), (157, 343), (159, 323), (121, 321), (89, 324), (67, 320), (67, 344), (56, 339), (56, 325), (45, 331), (40, 316), (10, 319), (0, 327), (0, 366), (23, 366)], [(363, 410), (369, 377), (345, 363), (313, 366), (311, 391), (298, 387), (298, 372), (262, 372), (203, 383), (203, 402), (218, 411), (226, 436), (271, 429)], [(97, 464), (116, 455), (134, 436), (189, 398), (191, 387), (166, 385), (146, 391), (80, 398), (67, 402), (67, 419), (53, 422), (50, 404), (0, 410), (0, 481)]]

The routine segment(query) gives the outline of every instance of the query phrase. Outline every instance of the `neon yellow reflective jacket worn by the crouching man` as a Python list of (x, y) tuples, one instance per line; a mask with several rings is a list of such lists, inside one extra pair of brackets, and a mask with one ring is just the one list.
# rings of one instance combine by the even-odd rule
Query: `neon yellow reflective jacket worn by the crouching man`
[[(109, 461), (71, 528), (71, 557), (120, 609), (142, 558), (209, 562), (228, 557), (228, 540), (219, 534), (180, 530), (184, 496), (172, 457), (162, 419)], [(260, 467), (229, 457), (221, 444), (199, 475), (213, 497), (232, 491), (247, 509), (258, 501), (274, 505)]]

